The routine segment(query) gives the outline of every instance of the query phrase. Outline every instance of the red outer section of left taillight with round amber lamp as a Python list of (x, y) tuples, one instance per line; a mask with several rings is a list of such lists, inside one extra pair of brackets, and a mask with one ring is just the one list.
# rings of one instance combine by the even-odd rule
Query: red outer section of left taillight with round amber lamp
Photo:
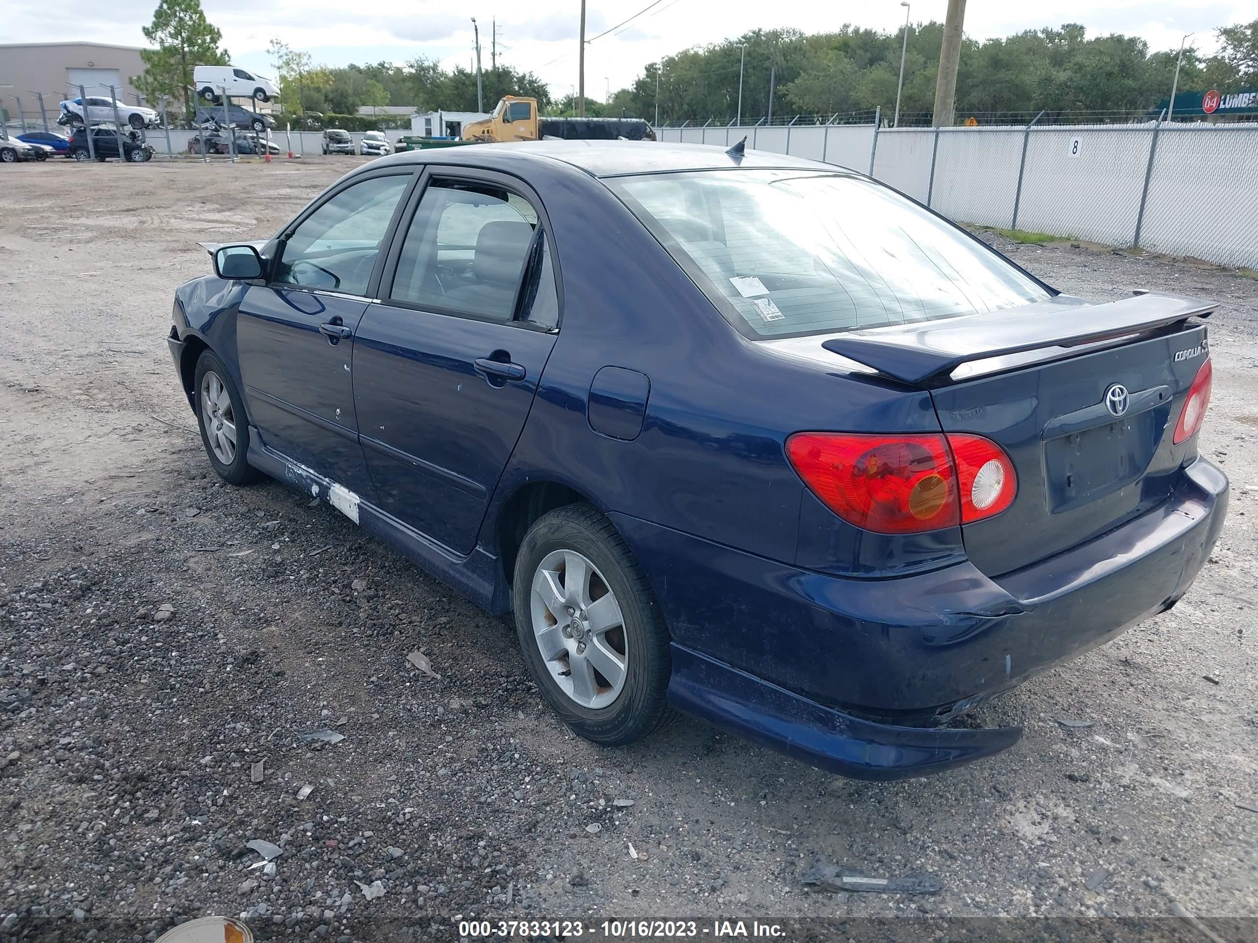
[(960, 521), (942, 435), (798, 433), (786, 456), (830, 510), (866, 531), (916, 533)]

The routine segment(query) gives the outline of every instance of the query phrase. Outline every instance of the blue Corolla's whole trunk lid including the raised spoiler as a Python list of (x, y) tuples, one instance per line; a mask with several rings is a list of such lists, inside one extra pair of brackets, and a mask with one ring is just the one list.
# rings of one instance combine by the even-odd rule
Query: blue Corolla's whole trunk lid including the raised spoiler
[(1003, 513), (962, 527), (966, 554), (1000, 576), (1164, 502), (1193, 440), (1172, 431), (1208, 356), (1190, 321), (1213, 304), (1145, 294), (1087, 306), (1058, 297), (935, 324), (823, 342), (930, 389), (940, 425), (1000, 445), (1018, 475)]

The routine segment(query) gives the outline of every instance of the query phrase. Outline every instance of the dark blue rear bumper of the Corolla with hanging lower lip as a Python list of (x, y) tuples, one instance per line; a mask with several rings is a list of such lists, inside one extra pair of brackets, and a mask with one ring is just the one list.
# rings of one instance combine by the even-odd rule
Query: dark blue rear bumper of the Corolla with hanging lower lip
[(816, 766), (898, 778), (1011, 746), (1016, 728), (938, 725), (1175, 605), (1227, 504), (1227, 477), (1198, 459), (1160, 508), (999, 580), (971, 563), (839, 578), (613, 518), (673, 634), (676, 707)]

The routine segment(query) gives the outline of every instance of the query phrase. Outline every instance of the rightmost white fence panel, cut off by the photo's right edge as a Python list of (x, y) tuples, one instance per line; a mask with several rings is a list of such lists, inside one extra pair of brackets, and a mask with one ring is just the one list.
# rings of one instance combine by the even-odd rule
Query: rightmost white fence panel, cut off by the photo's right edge
[(1258, 124), (1164, 124), (1140, 244), (1258, 269)]

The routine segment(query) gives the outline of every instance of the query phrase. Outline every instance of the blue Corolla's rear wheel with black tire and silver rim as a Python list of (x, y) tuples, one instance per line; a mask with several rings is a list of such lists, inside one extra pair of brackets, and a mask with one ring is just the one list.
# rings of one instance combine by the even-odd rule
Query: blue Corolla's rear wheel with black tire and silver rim
[(575, 733), (618, 747), (672, 717), (659, 604), (628, 544), (594, 507), (557, 508), (528, 528), (513, 591), (528, 673)]

